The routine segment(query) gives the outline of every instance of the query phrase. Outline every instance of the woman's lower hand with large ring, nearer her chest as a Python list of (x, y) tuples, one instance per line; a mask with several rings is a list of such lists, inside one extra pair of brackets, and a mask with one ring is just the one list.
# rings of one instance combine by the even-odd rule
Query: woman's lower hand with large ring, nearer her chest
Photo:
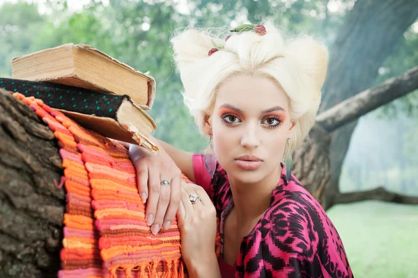
[[(187, 269), (212, 264), (218, 267), (215, 255), (216, 211), (210, 197), (201, 186), (182, 181), (181, 203), (177, 212), (181, 254)], [(192, 204), (189, 195), (200, 200)], [(214, 263), (215, 262), (215, 263)], [(213, 268), (210, 268), (213, 269)], [(215, 277), (210, 276), (209, 277)]]

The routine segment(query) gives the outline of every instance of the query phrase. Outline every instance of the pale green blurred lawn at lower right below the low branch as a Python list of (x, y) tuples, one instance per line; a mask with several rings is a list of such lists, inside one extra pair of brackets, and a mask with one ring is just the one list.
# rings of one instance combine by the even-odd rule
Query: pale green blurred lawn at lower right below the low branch
[(368, 201), (327, 214), (356, 278), (418, 278), (418, 206)]

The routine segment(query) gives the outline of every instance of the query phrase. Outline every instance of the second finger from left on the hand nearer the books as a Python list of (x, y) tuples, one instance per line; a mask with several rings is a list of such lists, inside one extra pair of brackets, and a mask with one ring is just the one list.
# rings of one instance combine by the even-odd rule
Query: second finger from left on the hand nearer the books
[(154, 222), (160, 190), (160, 173), (156, 170), (156, 167), (148, 167), (148, 199), (145, 213), (145, 220), (148, 226), (151, 226)]

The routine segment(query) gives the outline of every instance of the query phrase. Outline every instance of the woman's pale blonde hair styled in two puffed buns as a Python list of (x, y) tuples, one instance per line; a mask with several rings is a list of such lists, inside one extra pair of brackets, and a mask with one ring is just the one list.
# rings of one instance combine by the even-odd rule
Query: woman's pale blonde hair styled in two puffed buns
[[(270, 23), (264, 26), (265, 35), (231, 33), (226, 42), (209, 30), (192, 28), (175, 35), (171, 44), (185, 88), (184, 101), (204, 134), (205, 116), (223, 81), (236, 74), (276, 81), (288, 95), (291, 121), (295, 122), (290, 144), (295, 149), (315, 122), (327, 72), (327, 47), (306, 35), (285, 40), (278, 28)], [(223, 48), (208, 56), (214, 44)]]

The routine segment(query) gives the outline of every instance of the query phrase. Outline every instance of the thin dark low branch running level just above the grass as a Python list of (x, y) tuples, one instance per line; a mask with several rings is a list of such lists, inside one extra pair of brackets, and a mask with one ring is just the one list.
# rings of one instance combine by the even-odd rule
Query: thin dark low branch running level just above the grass
[(398, 204), (418, 204), (418, 197), (393, 193), (385, 190), (385, 188), (382, 188), (381, 186), (372, 190), (339, 193), (334, 197), (334, 204), (347, 204), (366, 200), (394, 202)]

